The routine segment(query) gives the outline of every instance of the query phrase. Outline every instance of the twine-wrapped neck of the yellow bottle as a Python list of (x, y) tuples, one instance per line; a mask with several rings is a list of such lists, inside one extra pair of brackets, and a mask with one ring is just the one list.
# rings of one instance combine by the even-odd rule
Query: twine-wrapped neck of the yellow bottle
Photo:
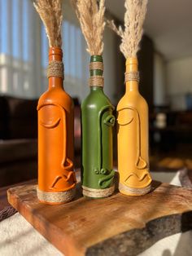
[(138, 81), (135, 78), (138, 74), (137, 58), (128, 58), (126, 60), (125, 86), (126, 92), (138, 91)]

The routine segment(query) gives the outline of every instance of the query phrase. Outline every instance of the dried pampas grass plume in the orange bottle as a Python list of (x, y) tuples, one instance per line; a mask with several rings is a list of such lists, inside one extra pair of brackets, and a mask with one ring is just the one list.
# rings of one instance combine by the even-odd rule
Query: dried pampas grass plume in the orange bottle
[(37, 0), (33, 5), (45, 25), (50, 47), (61, 47), (62, 0)]

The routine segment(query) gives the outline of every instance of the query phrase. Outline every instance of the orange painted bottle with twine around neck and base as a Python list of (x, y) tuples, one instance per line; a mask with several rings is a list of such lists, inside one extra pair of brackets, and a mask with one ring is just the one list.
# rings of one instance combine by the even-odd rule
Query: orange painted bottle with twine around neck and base
[(38, 105), (38, 199), (46, 204), (71, 201), (76, 187), (73, 171), (73, 102), (63, 90), (62, 50), (49, 51), (49, 88)]

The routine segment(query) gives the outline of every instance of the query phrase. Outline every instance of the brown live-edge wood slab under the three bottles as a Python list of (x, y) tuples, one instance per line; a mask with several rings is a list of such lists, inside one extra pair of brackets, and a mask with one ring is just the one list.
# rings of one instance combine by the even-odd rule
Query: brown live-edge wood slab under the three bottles
[(36, 185), (8, 190), (8, 201), (66, 256), (137, 255), (156, 241), (192, 229), (192, 189), (153, 182), (146, 196), (81, 196), (66, 205), (42, 205)]

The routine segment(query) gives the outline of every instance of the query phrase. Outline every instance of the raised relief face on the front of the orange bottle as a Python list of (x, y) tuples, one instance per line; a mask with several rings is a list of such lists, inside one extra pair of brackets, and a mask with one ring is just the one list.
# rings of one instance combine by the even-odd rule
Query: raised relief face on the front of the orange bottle
[(56, 104), (44, 105), (39, 108), (38, 118), (38, 132), (41, 134), (38, 150), (42, 159), (46, 159), (47, 184), (49, 183), (50, 190), (63, 191), (66, 183), (69, 187), (74, 185), (73, 171), (70, 171), (72, 161), (66, 156), (65, 110)]

